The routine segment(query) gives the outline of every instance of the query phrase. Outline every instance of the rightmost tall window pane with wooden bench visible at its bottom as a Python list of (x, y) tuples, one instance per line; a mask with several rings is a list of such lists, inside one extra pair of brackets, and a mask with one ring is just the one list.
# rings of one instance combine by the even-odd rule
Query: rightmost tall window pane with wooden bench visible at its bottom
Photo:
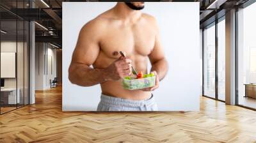
[(256, 109), (256, 3), (237, 14), (238, 104)]

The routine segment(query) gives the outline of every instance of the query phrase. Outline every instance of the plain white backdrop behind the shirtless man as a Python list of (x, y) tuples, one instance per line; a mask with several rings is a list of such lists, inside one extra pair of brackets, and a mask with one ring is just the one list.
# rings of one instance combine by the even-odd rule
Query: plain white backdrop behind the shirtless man
[[(62, 109), (92, 111), (100, 100), (100, 86), (80, 87), (68, 80), (68, 66), (81, 27), (116, 3), (63, 3)], [(154, 91), (159, 110), (199, 110), (200, 45), (199, 3), (145, 3), (160, 29), (169, 71)]]

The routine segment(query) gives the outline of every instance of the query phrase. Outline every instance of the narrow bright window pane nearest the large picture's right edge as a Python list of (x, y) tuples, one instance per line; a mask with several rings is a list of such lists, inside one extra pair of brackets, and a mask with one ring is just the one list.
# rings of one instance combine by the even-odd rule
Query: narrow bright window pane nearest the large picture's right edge
[(204, 29), (204, 95), (215, 98), (215, 26)]

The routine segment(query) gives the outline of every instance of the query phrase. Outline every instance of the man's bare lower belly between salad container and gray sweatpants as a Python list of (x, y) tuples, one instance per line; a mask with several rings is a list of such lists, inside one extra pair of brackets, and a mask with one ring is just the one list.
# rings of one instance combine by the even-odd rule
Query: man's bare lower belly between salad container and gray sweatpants
[(150, 91), (124, 89), (122, 80), (104, 82), (100, 86), (103, 94), (129, 100), (145, 100), (151, 95)]

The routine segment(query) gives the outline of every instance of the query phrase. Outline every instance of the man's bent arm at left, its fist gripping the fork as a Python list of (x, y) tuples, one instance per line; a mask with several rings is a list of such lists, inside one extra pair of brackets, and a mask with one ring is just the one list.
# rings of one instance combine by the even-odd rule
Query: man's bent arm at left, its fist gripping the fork
[(68, 79), (79, 86), (93, 86), (108, 80), (118, 80), (131, 73), (131, 60), (122, 59), (110, 64), (107, 68), (91, 68), (100, 52), (99, 26), (89, 22), (80, 31), (76, 49), (68, 69)]

